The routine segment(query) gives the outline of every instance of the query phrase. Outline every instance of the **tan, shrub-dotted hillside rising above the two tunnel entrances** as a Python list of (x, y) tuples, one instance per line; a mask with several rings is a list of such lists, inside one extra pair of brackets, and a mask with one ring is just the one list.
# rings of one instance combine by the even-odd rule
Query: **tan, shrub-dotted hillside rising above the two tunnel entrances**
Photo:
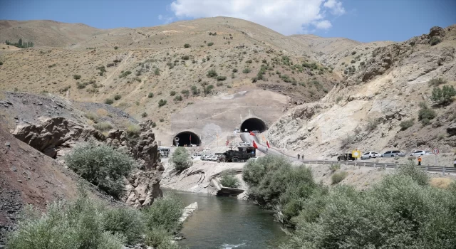
[[(0, 37), (22, 36), (19, 28), (14, 32)], [(36, 42), (34, 48), (1, 50), (0, 90), (51, 92), (86, 102), (111, 99), (137, 118), (147, 115), (166, 125), (170, 113), (219, 93), (260, 88), (301, 104), (319, 100), (341, 79), (301, 57), (305, 45), (237, 18), (96, 32), (69, 47)], [(160, 100), (166, 101), (162, 108)]]

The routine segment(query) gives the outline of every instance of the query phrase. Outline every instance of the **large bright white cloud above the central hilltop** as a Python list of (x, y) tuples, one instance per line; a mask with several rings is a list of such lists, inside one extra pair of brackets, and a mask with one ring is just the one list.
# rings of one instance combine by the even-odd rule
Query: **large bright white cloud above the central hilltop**
[(284, 35), (331, 28), (324, 8), (331, 14), (345, 12), (335, 0), (175, 0), (170, 5), (177, 18), (230, 16), (259, 23)]

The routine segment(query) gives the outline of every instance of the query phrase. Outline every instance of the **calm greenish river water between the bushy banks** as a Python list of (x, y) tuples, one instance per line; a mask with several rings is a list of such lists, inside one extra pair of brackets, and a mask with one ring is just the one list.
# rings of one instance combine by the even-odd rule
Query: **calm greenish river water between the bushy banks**
[(179, 244), (184, 248), (276, 248), (285, 238), (273, 213), (250, 201), (165, 190), (165, 194), (170, 193), (179, 196), (185, 206), (198, 203), (198, 210), (182, 228), (185, 239)]

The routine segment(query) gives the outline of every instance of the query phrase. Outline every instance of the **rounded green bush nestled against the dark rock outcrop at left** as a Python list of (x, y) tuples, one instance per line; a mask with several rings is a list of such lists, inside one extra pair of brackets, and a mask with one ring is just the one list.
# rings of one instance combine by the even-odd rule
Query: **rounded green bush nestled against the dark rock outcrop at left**
[(73, 149), (65, 162), (76, 174), (114, 198), (120, 198), (125, 192), (123, 177), (128, 176), (136, 164), (127, 154), (92, 142)]

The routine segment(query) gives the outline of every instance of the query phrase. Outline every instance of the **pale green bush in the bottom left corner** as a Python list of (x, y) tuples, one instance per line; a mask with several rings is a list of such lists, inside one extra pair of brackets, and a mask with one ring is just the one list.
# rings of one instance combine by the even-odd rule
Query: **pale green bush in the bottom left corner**
[(18, 230), (9, 235), (7, 248), (122, 249), (126, 236), (105, 228), (104, 211), (103, 205), (86, 195), (76, 201), (51, 203), (47, 213), (29, 206)]

